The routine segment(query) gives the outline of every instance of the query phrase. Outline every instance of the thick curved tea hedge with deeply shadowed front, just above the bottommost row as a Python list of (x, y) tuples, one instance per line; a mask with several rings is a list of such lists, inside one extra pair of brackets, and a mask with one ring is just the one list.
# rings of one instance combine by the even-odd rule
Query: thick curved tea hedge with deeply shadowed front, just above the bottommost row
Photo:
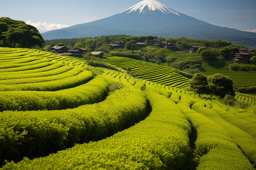
[(97, 141), (146, 117), (141, 90), (126, 84), (101, 103), (61, 111), (0, 112), (0, 158), (35, 158)]

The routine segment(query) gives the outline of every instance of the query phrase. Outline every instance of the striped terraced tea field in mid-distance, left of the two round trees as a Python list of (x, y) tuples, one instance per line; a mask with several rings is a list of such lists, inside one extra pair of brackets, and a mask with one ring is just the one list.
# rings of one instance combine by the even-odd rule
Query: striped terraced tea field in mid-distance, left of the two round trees
[(176, 88), (187, 88), (189, 86), (189, 79), (181, 75), (186, 73), (171, 67), (114, 56), (108, 56), (106, 59), (97, 58), (97, 61), (108, 62), (118, 67), (130, 68), (131, 72), (139, 79)]

